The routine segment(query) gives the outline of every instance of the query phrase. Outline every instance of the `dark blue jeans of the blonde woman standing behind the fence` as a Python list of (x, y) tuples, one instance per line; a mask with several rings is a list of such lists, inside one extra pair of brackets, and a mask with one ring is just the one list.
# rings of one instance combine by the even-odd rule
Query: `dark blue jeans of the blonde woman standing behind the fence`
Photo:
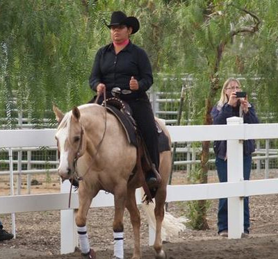
[[(216, 158), (216, 169), (220, 183), (227, 182), (227, 160)], [(243, 178), (250, 179), (252, 165), (252, 156), (243, 156)], [(245, 197), (243, 201), (244, 206), (244, 231), (250, 228), (250, 212), (249, 212), (249, 198)], [(218, 233), (228, 229), (228, 201), (227, 198), (219, 199), (218, 204)]]

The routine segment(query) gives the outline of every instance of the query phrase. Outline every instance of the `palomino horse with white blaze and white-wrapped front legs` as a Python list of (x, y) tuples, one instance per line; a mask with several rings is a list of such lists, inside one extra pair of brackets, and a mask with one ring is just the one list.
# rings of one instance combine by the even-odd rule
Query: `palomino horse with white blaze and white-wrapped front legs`
[[(136, 174), (136, 147), (129, 144), (122, 124), (102, 106), (85, 104), (79, 108), (73, 108), (65, 115), (54, 106), (54, 112), (59, 122), (56, 133), (60, 151), (58, 174), (63, 180), (72, 178), (74, 174), (82, 178), (79, 183), (79, 210), (76, 214), (81, 253), (84, 258), (96, 258), (88, 241), (86, 216), (92, 199), (99, 190), (106, 190), (114, 194), (115, 201), (113, 258), (124, 258), (123, 215), (124, 208), (127, 208), (134, 234), (132, 259), (140, 259), (140, 212), (136, 205), (135, 191), (136, 188), (142, 186), (142, 183), (140, 176)], [(163, 124), (161, 128), (170, 142), (167, 129)], [(165, 259), (161, 224), (165, 213), (166, 187), (171, 169), (170, 151), (161, 152), (160, 161), (159, 172), (162, 181), (155, 197), (154, 250), (155, 258)], [(135, 174), (129, 180), (132, 172)]]

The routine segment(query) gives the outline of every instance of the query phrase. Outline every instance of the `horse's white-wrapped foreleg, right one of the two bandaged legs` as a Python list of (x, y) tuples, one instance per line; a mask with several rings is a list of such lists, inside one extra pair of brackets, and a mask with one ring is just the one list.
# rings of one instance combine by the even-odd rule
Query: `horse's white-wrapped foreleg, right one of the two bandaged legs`
[(113, 222), (114, 257), (124, 258), (124, 208), (126, 205), (126, 183), (117, 185), (114, 190), (115, 215)]

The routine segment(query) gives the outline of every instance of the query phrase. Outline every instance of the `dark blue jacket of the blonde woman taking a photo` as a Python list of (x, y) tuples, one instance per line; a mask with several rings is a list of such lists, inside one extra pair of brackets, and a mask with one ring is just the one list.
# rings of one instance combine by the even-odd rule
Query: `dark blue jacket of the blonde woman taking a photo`
[[(213, 124), (227, 124), (227, 118), (229, 117), (239, 117), (239, 106), (232, 107), (228, 103), (219, 110), (218, 106), (214, 106), (211, 110), (211, 116), (213, 117)], [(254, 106), (251, 105), (249, 111), (245, 114), (243, 112), (243, 123), (245, 124), (256, 124), (259, 123), (259, 119), (256, 116)], [(213, 143), (213, 150), (215, 156), (218, 158), (225, 159), (227, 155), (227, 141), (217, 140)], [(255, 151), (255, 141), (245, 140), (243, 142), (243, 154), (245, 156), (250, 155)]]

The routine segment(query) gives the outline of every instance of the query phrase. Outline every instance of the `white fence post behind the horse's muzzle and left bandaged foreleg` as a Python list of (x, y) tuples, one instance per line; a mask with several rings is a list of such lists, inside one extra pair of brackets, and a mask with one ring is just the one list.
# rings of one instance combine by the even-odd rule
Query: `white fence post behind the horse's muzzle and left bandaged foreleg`
[[(70, 181), (60, 183), (60, 192), (69, 192)], [(78, 247), (74, 210), (60, 210), (60, 253), (73, 253)]]

